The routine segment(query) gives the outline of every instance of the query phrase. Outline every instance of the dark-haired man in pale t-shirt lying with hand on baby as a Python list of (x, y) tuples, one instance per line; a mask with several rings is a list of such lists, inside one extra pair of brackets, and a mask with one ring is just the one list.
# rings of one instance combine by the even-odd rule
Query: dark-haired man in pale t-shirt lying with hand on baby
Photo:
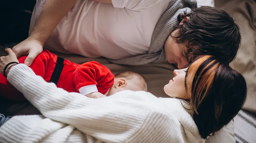
[[(118, 64), (168, 61), (182, 69), (196, 55), (231, 62), (241, 39), (239, 27), (227, 12), (197, 8), (196, 0), (37, 0), (34, 4), (35, 0), (0, 2), (0, 10), (6, 14), (3, 21), (7, 21), (0, 26), (0, 41), (21, 35), (16, 39), (24, 41), (13, 51), (17, 57), (28, 54), (27, 65), (44, 46), (57, 52), (105, 57)], [(14, 10), (20, 10), (26, 19)], [(33, 11), (31, 19), (29, 11)], [(15, 19), (11, 24), (10, 18)], [(23, 23), (18, 25), (16, 19)], [(15, 31), (20, 27), (24, 28)]]

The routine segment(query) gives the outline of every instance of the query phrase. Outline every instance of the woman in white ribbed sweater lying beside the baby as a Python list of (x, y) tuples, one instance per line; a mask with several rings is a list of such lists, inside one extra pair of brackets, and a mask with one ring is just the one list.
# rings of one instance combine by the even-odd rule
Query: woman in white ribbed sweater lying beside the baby
[[(17, 61), (11, 49), (7, 52), (0, 58), (1, 71)], [(173, 98), (121, 91), (91, 99), (47, 83), (24, 64), (10, 66), (8, 81), (44, 117), (9, 119), (0, 128), (1, 142), (202, 143), (234, 118), (247, 94), (243, 76), (208, 55), (174, 71), (175, 77), (164, 87)]]

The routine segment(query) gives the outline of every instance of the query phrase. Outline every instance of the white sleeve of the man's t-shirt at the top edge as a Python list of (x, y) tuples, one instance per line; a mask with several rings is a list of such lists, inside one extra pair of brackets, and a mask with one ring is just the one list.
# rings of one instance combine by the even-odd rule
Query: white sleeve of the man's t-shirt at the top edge
[(115, 8), (140, 9), (162, 0), (112, 0)]

